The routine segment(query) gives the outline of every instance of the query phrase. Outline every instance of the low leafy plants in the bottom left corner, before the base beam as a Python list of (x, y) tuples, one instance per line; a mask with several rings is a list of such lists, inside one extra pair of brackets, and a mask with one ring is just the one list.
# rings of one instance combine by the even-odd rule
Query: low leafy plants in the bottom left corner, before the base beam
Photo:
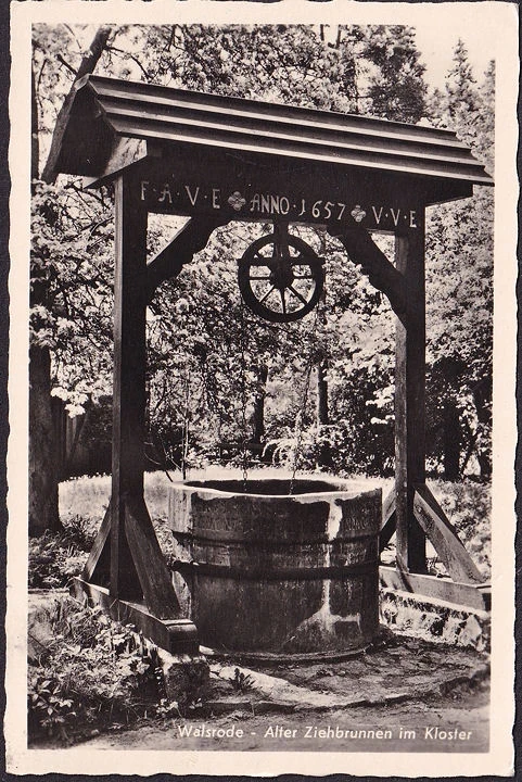
[(157, 649), (130, 626), (72, 600), (49, 619), (54, 642), (28, 669), (30, 739), (71, 741), (94, 726), (129, 723), (164, 699)]

